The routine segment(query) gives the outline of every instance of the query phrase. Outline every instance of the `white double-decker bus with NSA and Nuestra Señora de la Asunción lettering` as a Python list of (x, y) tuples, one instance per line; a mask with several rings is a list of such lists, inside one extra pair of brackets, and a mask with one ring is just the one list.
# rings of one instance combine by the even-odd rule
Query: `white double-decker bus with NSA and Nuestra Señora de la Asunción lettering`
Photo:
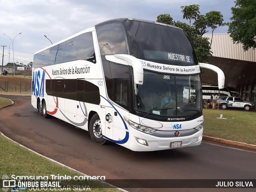
[[(34, 54), (32, 106), (134, 151), (202, 142), (200, 67), (185, 32), (132, 18), (108, 20)], [(193, 102), (184, 91), (193, 90)]]

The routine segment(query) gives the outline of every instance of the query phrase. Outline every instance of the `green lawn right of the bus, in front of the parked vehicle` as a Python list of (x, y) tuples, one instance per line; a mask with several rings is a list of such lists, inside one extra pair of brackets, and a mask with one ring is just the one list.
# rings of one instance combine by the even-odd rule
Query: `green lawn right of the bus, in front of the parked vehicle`
[[(231, 110), (203, 110), (204, 135), (256, 145), (256, 113)], [(220, 114), (223, 118), (218, 119)]]

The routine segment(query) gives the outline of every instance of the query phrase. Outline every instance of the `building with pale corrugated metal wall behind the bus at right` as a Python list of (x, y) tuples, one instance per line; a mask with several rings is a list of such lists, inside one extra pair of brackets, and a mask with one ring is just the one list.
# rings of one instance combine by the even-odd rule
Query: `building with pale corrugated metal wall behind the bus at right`
[[(212, 34), (204, 34), (211, 40)], [(225, 74), (225, 86), (235, 88), (246, 100), (256, 102), (256, 49), (244, 51), (242, 44), (234, 44), (229, 34), (214, 34), (209, 63)], [(218, 84), (217, 74), (205, 70), (202, 82)]]

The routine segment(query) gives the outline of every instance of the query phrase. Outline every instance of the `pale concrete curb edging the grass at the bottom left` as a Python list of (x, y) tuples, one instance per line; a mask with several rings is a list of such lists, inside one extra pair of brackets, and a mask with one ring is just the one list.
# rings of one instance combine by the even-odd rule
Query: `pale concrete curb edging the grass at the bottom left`
[[(75, 170), (75, 169), (73, 169), (73, 168), (71, 168), (71, 167), (69, 167), (69, 166), (66, 166), (66, 165), (64, 165), (64, 164), (62, 164), (62, 163), (60, 163), (60, 162), (58, 162), (58, 161), (55, 161), (55, 160), (53, 160), (53, 159), (51, 159), (51, 158), (48, 158), (48, 157), (46, 157), (46, 156), (43, 156), (43, 155), (41, 155), (40, 153), (35, 152), (35, 151), (31, 150), (30, 148), (27, 148), (27, 147), (23, 146), (22, 144), (17, 143), (16, 141), (14, 141), (14, 140), (8, 138), (7, 136), (5, 136), (2, 132), (0, 132), (0, 134), (1, 134), (2, 136), (4, 136), (4, 138), (7, 138), (8, 140), (10, 140), (10, 141), (12, 141), (12, 142), (18, 144), (19, 146), (21, 146), (21, 147), (23, 147), (23, 148), (25, 148), (25, 149), (27, 149), (27, 150), (33, 152), (34, 154), (37, 154), (37, 155), (39, 155), (39, 156), (41, 156), (41, 157), (44, 157), (44, 158), (46, 158), (47, 160), (50, 160), (51, 162), (54, 162), (54, 163), (56, 163), (56, 164), (58, 164), (58, 165), (60, 165), (60, 166), (66, 167), (66, 168), (68, 168), (68, 169), (70, 169), (70, 170), (72, 170), (72, 171), (75, 171), (75, 172), (79, 173), (79, 174), (82, 174), (82, 175), (84, 175), (84, 176), (88, 176), (88, 175), (86, 175), (86, 174), (84, 174), (84, 173), (82, 173), (82, 172), (80, 172), (80, 171), (78, 171), (78, 170)], [(116, 187), (116, 186), (114, 186), (114, 185), (112, 185), (112, 184), (109, 184), (109, 183), (107, 183), (107, 182), (104, 182), (104, 181), (102, 181), (102, 180), (98, 180), (98, 181), (99, 181), (99, 182), (102, 182), (102, 183), (104, 183), (104, 184), (107, 184), (107, 185), (109, 185), (109, 186), (111, 186), (111, 187), (113, 187), (113, 188), (116, 188), (116, 189), (118, 189), (118, 190), (120, 190), (120, 191), (122, 191), (122, 192), (128, 192), (128, 191), (126, 191), (126, 190), (124, 190), (124, 189), (118, 188), (118, 187)]]

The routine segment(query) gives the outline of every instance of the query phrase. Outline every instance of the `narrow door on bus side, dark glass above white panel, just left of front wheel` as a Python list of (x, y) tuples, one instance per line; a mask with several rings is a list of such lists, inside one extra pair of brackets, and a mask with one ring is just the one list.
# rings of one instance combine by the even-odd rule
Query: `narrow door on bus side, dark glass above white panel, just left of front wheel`
[[(87, 109), (84, 102), (84, 79), (76, 80), (76, 126), (86, 129)], [(87, 130), (87, 129), (86, 129)]]

